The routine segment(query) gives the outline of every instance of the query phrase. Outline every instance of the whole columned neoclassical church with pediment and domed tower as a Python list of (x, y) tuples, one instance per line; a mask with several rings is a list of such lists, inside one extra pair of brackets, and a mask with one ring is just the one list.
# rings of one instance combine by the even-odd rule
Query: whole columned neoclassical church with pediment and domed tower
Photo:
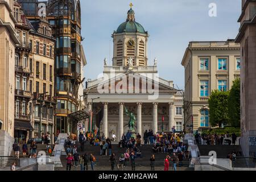
[[(131, 8), (126, 22), (119, 25), (113, 38), (113, 63), (107, 65), (96, 80), (88, 79), (84, 94), (88, 113), (102, 109), (101, 135), (117, 135), (121, 139), (129, 130), (125, 109), (135, 114), (135, 131), (154, 133), (183, 130), (183, 92), (174, 88), (173, 81), (158, 76), (157, 60), (148, 65), (148, 32), (135, 21)], [(85, 123), (85, 130), (98, 130), (95, 114)]]

